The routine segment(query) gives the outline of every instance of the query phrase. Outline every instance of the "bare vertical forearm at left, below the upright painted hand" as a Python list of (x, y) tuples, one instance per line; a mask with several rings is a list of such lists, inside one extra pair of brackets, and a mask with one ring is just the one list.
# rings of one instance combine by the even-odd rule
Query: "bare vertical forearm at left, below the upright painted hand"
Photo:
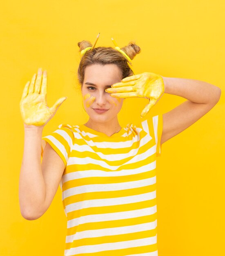
[(20, 211), (32, 219), (45, 202), (45, 181), (41, 170), (42, 129), (25, 128), (24, 152), (19, 181)]

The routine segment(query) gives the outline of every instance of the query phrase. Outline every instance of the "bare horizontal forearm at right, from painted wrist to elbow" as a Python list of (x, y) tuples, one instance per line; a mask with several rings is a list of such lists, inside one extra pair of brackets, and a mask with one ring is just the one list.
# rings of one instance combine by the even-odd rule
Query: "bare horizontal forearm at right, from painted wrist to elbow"
[(195, 103), (218, 102), (221, 89), (210, 83), (194, 79), (163, 77), (165, 93), (178, 95)]

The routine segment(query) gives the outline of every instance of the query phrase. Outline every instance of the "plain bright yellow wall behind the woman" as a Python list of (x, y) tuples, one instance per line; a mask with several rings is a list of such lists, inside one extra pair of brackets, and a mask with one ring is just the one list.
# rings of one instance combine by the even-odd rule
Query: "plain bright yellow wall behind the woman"
[[(19, 102), (38, 67), (47, 69), (47, 102), (68, 98), (43, 135), (61, 123), (85, 123), (76, 71), (77, 43), (141, 48), (136, 74), (196, 79), (222, 89), (220, 101), (191, 127), (166, 141), (158, 157), (159, 256), (225, 255), (225, 1), (224, 0), (7, 0), (0, 4), (1, 77), (1, 256), (62, 256), (66, 216), (60, 187), (38, 220), (20, 214), (18, 184), (24, 131)], [(164, 94), (150, 115), (172, 110), (186, 99)], [(119, 114), (125, 126), (139, 120), (147, 99), (126, 99)], [(133, 115), (132, 112), (135, 112)]]

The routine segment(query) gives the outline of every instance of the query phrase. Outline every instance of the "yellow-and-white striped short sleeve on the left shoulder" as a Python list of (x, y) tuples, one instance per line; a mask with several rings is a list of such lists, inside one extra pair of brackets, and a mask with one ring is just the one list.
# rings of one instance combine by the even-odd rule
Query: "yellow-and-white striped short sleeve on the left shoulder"
[(57, 130), (52, 132), (50, 135), (42, 137), (42, 140), (41, 156), (43, 156), (46, 142), (48, 142), (61, 157), (66, 166), (74, 141), (72, 126), (68, 124), (60, 124)]

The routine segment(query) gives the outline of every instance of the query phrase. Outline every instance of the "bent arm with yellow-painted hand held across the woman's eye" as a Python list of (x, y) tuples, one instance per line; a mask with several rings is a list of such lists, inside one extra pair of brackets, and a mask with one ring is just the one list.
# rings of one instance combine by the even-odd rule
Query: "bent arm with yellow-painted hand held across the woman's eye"
[(203, 117), (219, 101), (221, 89), (210, 83), (193, 79), (163, 77), (144, 72), (128, 76), (106, 89), (112, 97), (143, 97), (149, 99), (141, 117), (158, 102), (164, 93), (181, 96), (187, 101), (163, 114), (163, 132), (160, 144), (182, 132)]

